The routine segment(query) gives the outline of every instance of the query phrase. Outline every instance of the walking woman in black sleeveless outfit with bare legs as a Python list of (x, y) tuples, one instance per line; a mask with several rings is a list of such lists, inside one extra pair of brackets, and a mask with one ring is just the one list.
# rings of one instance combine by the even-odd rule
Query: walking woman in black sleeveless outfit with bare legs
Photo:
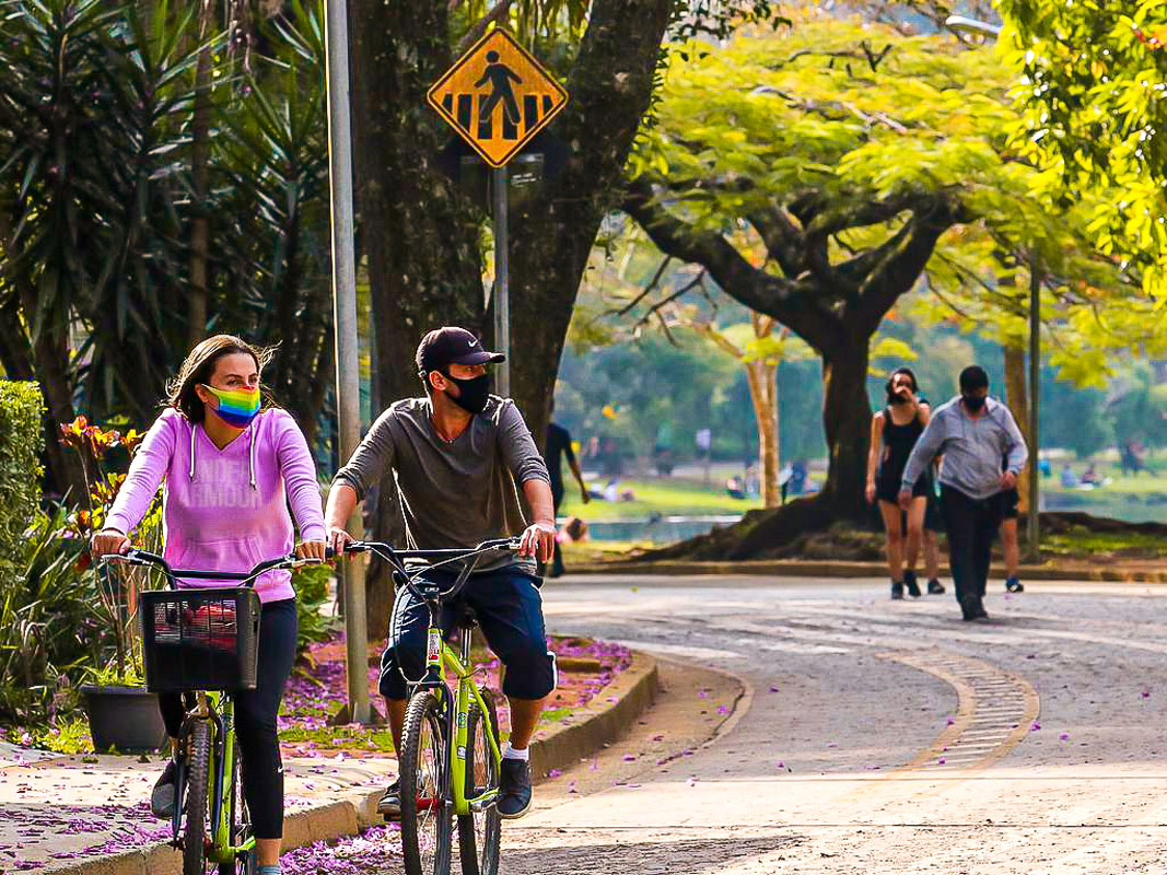
[(924, 512), (931, 478), (925, 474), (914, 485), (907, 511), (904, 532), (903, 511), (900, 510), (900, 483), (908, 456), (929, 420), (929, 408), (916, 398), (916, 376), (909, 368), (897, 368), (887, 380), (887, 405), (872, 418), (871, 450), (867, 454), (867, 501), (879, 503), (883, 518), (887, 568), (892, 576), (892, 597), (903, 598), (904, 589), (913, 598), (921, 595), (915, 570), (904, 573), (904, 553), (920, 554), (924, 531)]

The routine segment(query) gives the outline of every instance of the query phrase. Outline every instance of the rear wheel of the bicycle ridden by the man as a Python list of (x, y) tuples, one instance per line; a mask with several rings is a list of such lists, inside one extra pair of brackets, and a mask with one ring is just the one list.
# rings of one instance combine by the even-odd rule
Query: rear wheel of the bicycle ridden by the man
[[(477, 702), (470, 704), (466, 733), (466, 798), (473, 799), (489, 790), (498, 789), (498, 766), (487, 741), (491, 733), (498, 741), (498, 714), (490, 693), (482, 691), (487, 704), (483, 715)], [(502, 835), (502, 818), (494, 803), (485, 811), (460, 814), (457, 818), (459, 858), (462, 875), (497, 875), (498, 841)]]

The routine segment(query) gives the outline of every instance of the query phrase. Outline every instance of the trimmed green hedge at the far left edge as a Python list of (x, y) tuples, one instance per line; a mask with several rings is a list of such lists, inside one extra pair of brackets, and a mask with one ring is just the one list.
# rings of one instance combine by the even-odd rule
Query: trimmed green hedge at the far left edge
[(40, 385), (0, 380), (0, 556), (19, 554), (40, 506), (43, 412)]

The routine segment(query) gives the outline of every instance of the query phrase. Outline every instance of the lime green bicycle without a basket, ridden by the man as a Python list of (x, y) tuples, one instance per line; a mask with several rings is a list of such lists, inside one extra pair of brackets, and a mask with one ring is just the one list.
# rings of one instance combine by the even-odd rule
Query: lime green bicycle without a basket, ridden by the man
[[(352, 541), (349, 553), (370, 552), (393, 569), (399, 586), (429, 609), (426, 673), (407, 678), (412, 695), (405, 712), (399, 755), (401, 849), (406, 875), (447, 875), (457, 818), (462, 875), (497, 875), (502, 818), (495, 803), (502, 771), (498, 715), (490, 691), (474, 680), (470, 663), (473, 612), (463, 610), (460, 652), (446, 643), (439, 624), (441, 606), (454, 602), (470, 574), (488, 555), (513, 553), (512, 539), (483, 541), (473, 550), (398, 551), (378, 541)], [(407, 561), (427, 562), (406, 567)], [(461, 566), (453, 583), (422, 575), (442, 566)], [(447, 678), (456, 682), (450, 690)], [(410, 792), (407, 789), (412, 789)]]

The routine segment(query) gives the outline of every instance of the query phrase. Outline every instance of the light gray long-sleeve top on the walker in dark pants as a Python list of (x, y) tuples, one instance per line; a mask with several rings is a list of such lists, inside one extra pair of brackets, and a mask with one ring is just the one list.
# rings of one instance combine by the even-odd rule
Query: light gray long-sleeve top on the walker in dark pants
[(1018, 474), (1029, 450), (1008, 407), (988, 398), (984, 413), (973, 419), (957, 396), (932, 412), (908, 456), (901, 489), (910, 492), (938, 455), (944, 456), (942, 485), (959, 489), (971, 498), (988, 498), (1001, 491), (1001, 460), (1007, 456), (1005, 467)]

